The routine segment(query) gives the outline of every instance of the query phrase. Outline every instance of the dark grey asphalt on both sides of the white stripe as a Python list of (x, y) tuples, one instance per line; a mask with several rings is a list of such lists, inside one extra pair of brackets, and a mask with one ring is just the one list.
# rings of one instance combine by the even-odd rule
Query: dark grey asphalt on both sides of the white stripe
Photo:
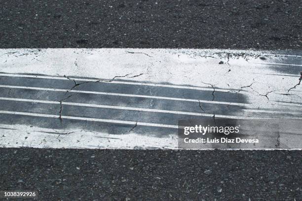
[[(300, 0), (0, 1), (0, 48), (302, 49)], [(0, 148), (38, 200), (300, 201), (302, 151)]]

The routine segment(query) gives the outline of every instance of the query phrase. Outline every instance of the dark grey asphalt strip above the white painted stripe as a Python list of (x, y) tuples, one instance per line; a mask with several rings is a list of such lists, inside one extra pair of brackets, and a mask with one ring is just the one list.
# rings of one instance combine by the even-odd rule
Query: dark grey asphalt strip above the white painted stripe
[(0, 47), (300, 49), (301, 0), (2, 0)]

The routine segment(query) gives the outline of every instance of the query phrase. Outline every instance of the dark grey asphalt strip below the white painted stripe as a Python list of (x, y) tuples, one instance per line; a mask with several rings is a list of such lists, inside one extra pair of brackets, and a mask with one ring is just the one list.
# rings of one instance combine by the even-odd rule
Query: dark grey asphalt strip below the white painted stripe
[(39, 200), (300, 201), (301, 151), (0, 149), (0, 187)]

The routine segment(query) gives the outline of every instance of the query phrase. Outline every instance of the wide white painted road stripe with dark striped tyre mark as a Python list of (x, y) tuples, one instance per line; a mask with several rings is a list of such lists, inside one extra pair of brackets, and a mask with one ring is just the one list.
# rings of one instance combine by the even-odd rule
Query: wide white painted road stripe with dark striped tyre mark
[[(175, 149), (188, 117), (299, 120), (301, 71), (272, 51), (0, 49), (0, 146)], [(301, 148), (291, 129), (276, 148)], [(275, 148), (259, 136), (241, 148)]]

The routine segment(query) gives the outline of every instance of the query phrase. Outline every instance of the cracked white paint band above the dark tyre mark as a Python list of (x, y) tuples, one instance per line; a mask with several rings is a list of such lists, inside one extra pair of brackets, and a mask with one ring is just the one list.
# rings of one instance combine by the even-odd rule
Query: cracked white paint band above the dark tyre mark
[[(246, 54), (229, 57), (226, 53)], [(12, 53), (9, 53), (12, 52)], [(138, 52), (138, 53), (127, 53)], [(144, 54), (143, 54), (143, 53)], [(148, 54), (150, 56), (147, 56)], [(266, 60), (259, 59), (267, 55)], [(211, 57), (207, 57), (211, 56)], [(215, 58), (212, 58), (215, 57)], [(301, 59), (302, 60), (302, 59)], [(301, 66), (300, 60), (298, 66)], [(246, 91), (254, 94), (256, 105), (265, 104), (266, 94), (271, 100), (287, 99), (279, 93), (299, 82), (300, 75), (291, 77), (268, 68), (278, 61), (275, 55), (261, 51), (198, 50), (198, 49), (0, 49), (0, 71), (5, 73), (41, 73), (49, 76), (88, 77), (111, 80), (116, 76), (128, 76), (119, 80), (140, 82), (168, 82), (176, 85), (240, 89), (253, 83)], [(219, 64), (224, 61), (224, 64)], [(76, 62), (76, 65), (75, 65)], [(257, 64), (256, 64), (257, 63)], [(259, 65), (262, 64), (262, 65)], [(290, 67), (288, 67), (290, 68)], [(231, 71), (229, 71), (231, 70)], [(139, 77), (133, 76), (143, 74)], [(268, 76), (278, 74), (277, 76)], [(265, 87), (266, 86), (266, 87)], [(277, 93), (277, 92), (278, 93)], [(301, 103), (302, 89), (291, 90), (290, 100)], [(299, 97), (300, 96), (300, 97)]]

